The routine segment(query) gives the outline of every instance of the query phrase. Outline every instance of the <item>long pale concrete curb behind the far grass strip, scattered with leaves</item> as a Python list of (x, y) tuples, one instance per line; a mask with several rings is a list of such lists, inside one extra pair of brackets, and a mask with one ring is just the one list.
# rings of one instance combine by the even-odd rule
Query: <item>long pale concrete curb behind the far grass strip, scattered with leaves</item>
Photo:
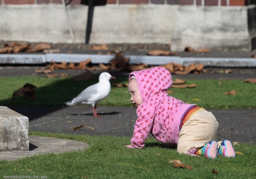
[[(179, 56), (139, 56), (131, 55), (129, 64), (146, 63), (149, 65), (163, 65), (169, 62), (188, 65), (192, 62), (202, 63), (204, 66), (217, 67), (256, 67), (254, 58), (196, 58)], [(109, 63), (114, 55), (93, 55), (93, 54), (2, 54), (0, 64), (44, 64), (51, 61), (55, 62), (74, 62), (78, 63), (90, 58), (92, 63)]]

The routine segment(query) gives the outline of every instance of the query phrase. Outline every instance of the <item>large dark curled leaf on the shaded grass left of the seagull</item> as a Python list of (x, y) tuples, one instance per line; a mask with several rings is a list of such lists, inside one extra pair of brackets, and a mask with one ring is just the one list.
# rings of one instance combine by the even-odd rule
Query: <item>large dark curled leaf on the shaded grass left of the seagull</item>
[(19, 96), (25, 96), (26, 100), (35, 100), (36, 88), (37, 87), (35, 85), (26, 83), (23, 87), (13, 92), (11, 101), (13, 101), (14, 98)]

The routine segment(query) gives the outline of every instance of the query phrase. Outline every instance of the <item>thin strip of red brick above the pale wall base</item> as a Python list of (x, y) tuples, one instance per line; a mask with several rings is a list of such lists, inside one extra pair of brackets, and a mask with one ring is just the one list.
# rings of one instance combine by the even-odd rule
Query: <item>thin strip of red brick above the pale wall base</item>
[[(68, 2), (69, 0), (66, 0)], [(61, 0), (0, 0), (0, 5), (61, 4)], [(80, 4), (73, 0), (71, 4)], [(106, 0), (106, 4), (155, 4), (155, 5), (197, 5), (197, 6), (246, 6), (256, 0)]]

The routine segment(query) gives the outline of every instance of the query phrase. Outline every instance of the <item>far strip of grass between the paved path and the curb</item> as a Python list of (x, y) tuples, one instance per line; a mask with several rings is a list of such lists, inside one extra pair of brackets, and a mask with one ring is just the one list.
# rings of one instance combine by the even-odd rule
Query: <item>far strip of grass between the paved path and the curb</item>
[[(98, 79), (86, 82), (73, 81), (70, 78), (52, 79), (43, 77), (1, 77), (0, 78), (0, 105), (62, 105), (76, 97), (84, 88), (94, 84)], [(187, 84), (196, 83), (195, 88), (170, 88), (172, 96), (187, 103), (196, 103), (204, 108), (256, 108), (256, 85), (244, 83), (242, 80), (186, 80)], [(126, 87), (115, 87), (114, 83), (127, 83), (127, 79), (111, 80), (112, 89), (108, 98), (99, 105), (131, 106), (130, 95)], [(36, 100), (26, 101), (24, 97), (16, 98), (13, 102), (7, 99), (12, 97), (15, 90), (25, 83), (37, 86)], [(236, 95), (225, 95), (225, 92), (236, 91)]]

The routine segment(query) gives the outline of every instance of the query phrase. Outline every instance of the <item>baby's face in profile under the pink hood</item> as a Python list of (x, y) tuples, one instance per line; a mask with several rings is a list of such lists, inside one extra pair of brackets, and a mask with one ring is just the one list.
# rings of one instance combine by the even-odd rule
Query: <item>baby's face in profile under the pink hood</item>
[(131, 101), (135, 106), (139, 106), (142, 104), (142, 100), (140, 97), (140, 91), (137, 84), (137, 81), (135, 79), (131, 79), (131, 81), (128, 84), (128, 90), (131, 95)]

